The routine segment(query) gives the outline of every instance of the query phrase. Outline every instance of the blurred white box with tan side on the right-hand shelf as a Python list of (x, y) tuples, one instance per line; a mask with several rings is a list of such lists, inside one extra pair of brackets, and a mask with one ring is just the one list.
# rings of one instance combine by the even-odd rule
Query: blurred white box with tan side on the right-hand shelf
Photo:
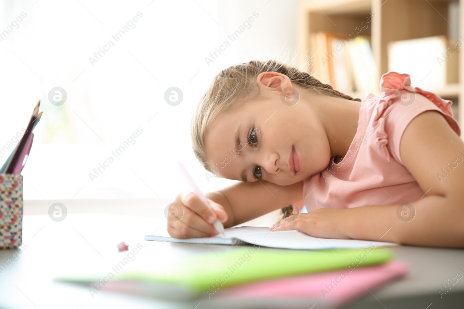
[(455, 84), (461, 39), (452, 41), (446, 36), (434, 36), (391, 42), (388, 70), (409, 74), (411, 85), (424, 90), (438, 91)]

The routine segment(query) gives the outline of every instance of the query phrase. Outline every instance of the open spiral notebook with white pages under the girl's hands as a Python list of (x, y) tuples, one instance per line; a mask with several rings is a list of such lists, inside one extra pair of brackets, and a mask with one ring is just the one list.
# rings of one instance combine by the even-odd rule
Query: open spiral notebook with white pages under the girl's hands
[(177, 239), (173, 237), (147, 235), (145, 240), (183, 242), (190, 244), (217, 244), (217, 245), (258, 245), (272, 248), (286, 249), (354, 249), (374, 248), (383, 246), (397, 246), (391, 242), (370, 240), (342, 240), (311, 237), (300, 231), (271, 232), (269, 227), (231, 227), (226, 228), (224, 236), (205, 238)]

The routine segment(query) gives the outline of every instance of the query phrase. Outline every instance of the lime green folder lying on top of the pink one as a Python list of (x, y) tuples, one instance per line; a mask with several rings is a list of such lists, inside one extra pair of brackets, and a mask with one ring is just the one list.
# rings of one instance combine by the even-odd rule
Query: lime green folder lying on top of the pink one
[[(377, 265), (392, 259), (388, 249), (286, 250), (243, 246), (227, 252), (183, 257), (168, 265), (137, 265), (108, 272), (59, 277), (59, 281), (94, 283), (104, 280), (120, 287), (143, 285), (148, 296), (191, 298), (222, 287), (306, 273)], [(130, 287), (129, 287), (130, 288)], [(104, 289), (107, 289), (106, 287)], [(116, 289), (117, 290), (117, 289)], [(140, 292), (140, 291), (139, 291)], [(182, 296), (182, 297), (180, 297)]]

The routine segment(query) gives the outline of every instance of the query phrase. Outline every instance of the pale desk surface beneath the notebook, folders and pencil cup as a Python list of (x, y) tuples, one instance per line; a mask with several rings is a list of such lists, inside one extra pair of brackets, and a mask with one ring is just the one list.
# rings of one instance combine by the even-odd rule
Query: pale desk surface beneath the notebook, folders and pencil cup
[[(52, 221), (48, 208), (62, 202), (67, 208), (63, 221)], [(76, 269), (110, 270), (127, 255), (116, 244), (125, 241), (130, 247), (142, 244), (143, 250), (130, 263), (166, 263), (176, 256), (201, 252), (233, 250), (232, 246), (173, 244), (145, 241), (143, 236), (166, 229), (163, 217), (166, 199), (26, 201), (23, 219), (23, 244), (26, 248), (0, 273), (0, 308), (218, 308), (211, 299), (190, 302), (166, 302), (147, 298), (136, 291), (132, 295), (116, 294), (104, 289), (93, 297), (89, 287), (53, 281), (53, 277)], [(137, 216), (132, 215), (137, 214)], [(269, 226), (276, 214), (248, 225)], [(129, 247), (129, 248), (130, 248)], [(464, 278), (442, 295), (442, 284), (464, 275), (464, 250), (399, 246), (391, 250), (398, 259), (410, 264), (409, 273), (343, 308), (462, 308)], [(0, 250), (0, 263), (13, 257), (15, 250)], [(462, 267), (462, 269), (460, 268)], [(200, 303), (200, 304), (199, 304)], [(460, 303), (461, 307), (458, 306)], [(251, 308), (310, 308), (313, 304), (295, 300), (282, 304), (250, 304)], [(428, 307), (430, 306), (430, 307)], [(221, 304), (221, 308), (234, 308)], [(322, 308), (316, 304), (313, 309)]]

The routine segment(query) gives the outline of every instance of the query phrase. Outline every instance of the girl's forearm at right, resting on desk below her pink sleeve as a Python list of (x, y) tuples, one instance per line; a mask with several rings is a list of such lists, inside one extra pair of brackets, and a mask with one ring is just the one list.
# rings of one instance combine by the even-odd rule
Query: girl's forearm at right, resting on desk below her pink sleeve
[(344, 210), (342, 230), (353, 239), (413, 246), (464, 246), (464, 205), (458, 198), (431, 195), (400, 205)]

